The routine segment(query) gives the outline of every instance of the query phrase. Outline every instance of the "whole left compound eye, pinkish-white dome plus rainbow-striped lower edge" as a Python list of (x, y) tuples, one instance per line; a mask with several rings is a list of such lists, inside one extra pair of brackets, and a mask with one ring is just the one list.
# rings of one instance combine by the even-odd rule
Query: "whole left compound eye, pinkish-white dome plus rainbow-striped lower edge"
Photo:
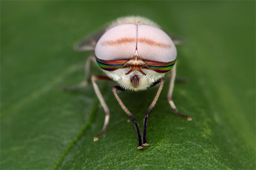
[(136, 51), (136, 41), (137, 25), (121, 24), (111, 28), (101, 36), (96, 44), (95, 55), (98, 64), (101, 62), (105, 64), (105, 67), (114, 66), (115, 69), (122, 67), (122, 63), (124, 64), (133, 57)]

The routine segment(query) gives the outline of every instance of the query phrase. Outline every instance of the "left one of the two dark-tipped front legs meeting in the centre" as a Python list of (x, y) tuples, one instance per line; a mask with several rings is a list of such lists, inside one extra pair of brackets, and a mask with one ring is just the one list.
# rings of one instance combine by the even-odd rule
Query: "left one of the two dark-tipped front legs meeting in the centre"
[(138, 139), (139, 139), (139, 146), (138, 149), (142, 149), (142, 141), (141, 141), (141, 135), (140, 135), (140, 131), (139, 131), (139, 125), (138, 122), (136, 120), (136, 118), (133, 117), (132, 113), (126, 108), (126, 106), (123, 104), (122, 100), (118, 97), (116, 91), (117, 90), (124, 90), (122, 87), (120, 86), (115, 86), (112, 88), (112, 92), (114, 93), (115, 97), (117, 98), (118, 103), (120, 104), (120, 106), (123, 108), (123, 111), (128, 114), (129, 118), (133, 121), (133, 124), (135, 125), (135, 128), (137, 130), (137, 134), (138, 134)]

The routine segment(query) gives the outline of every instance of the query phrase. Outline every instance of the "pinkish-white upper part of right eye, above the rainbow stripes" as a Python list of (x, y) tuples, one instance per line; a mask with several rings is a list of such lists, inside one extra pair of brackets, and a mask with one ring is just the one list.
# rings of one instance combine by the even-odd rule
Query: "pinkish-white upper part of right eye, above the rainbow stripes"
[(177, 57), (176, 47), (171, 38), (155, 26), (138, 26), (137, 50), (144, 61), (169, 63)]

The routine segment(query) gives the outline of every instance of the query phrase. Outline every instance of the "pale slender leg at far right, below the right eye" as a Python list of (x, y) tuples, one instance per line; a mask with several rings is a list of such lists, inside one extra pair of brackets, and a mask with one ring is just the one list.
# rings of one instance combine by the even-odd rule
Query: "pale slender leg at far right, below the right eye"
[(181, 114), (178, 111), (178, 109), (176, 108), (175, 104), (173, 103), (172, 92), (173, 92), (173, 88), (174, 88), (175, 77), (176, 77), (176, 64), (174, 65), (174, 67), (171, 70), (171, 82), (170, 82), (170, 88), (169, 88), (169, 92), (168, 92), (168, 96), (167, 96), (168, 101), (169, 101), (174, 113), (176, 113), (178, 116), (180, 116), (182, 118), (187, 118), (187, 120), (190, 121), (190, 120), (192, 120), (192, 118), (190, 116)]

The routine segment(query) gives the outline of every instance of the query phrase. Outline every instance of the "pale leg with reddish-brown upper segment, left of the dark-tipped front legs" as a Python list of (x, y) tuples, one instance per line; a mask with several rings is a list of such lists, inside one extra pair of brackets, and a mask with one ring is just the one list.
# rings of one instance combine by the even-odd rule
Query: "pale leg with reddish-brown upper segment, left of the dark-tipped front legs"
[(102, 130), (101, 130), (101, 133), (97, 134), (97, 135), (94, 137), (93, 141), (97, 141), (98, 138), (99, 138), (102, 134), (104, 134), (104, 133), (106, 132), (106, 130), (107, 130), (107, 125), (108, 125), (108, 122), (109, 122), (109, 113), (110, 113), (110, 112), (109, 112), (109, 109), (108, 109), (108, 107), (107, 107), (107, 104), (106, 104), (106, 102), (105, 102), (105, 100), (104, 100), (104, 98), (103, 98), (103, 96), (102, 96), (102, 94), (101, 94), (101, 92), (100, 92), (100, 89), (98, 88), (98, 86), (97, 86), (97, 84), (96, 84), (96, 80), (108, 80), (108, 81), (113, 81), (111, 78), (109, 78), (109, 77), (107, 77), (107, 76), (96, 76), (96, 75), (93, 75), (93, 76), (91, 77), (91, 82), (92, 82), (93, 88), (94, 88), (94, 90), (95, 90), (95, 93), (96, 93), (97, 97), (99, 98), (100, 103), (101, 103), (101, 106), (103, 107), (103, 109), (104, 109), (104, 111), (105, 111), (105, 113), (106, 113), (106, 115), (105, 115), (105, 122), (104, 122), (104, 126), (103, 126), (103, 128), (102, 128)]

